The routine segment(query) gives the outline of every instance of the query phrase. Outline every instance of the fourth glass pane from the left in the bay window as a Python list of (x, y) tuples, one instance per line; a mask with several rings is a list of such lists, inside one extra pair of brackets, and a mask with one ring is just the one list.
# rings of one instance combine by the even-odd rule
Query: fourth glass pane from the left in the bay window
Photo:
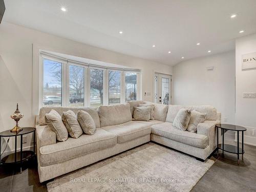
[(120, 103), (120, 72), (109, 71), (109, 104)]

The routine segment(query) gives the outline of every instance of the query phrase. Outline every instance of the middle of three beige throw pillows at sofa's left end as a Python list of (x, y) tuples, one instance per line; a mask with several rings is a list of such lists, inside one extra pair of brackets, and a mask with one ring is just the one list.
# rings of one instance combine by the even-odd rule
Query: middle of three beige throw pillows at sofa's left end
[(76, 114), (69, 110), (62, 113), (62, 121), (65, 124), (70, 137), (77, 139), (82, 135), (82, 129), (77, 121)]

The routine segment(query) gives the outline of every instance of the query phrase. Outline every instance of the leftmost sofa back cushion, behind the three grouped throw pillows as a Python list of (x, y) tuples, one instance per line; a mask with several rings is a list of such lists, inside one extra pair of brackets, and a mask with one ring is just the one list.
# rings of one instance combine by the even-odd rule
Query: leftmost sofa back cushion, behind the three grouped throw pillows
[(45, 120), (45, 116), (47, 113), (50, 113), (51, 110), (55, 110), (56, 112), (58, 112), (58, 114), (61, 116), (63, 112), (66, 111), (73, 111), (75, 114), (77, 114), (78, 110), (82, 110), (82, 111), (86, 111), (87, 113), (89, 113), (94, 122), (96, 127), (100, 127), (100, 121), (99, 121), (99, 115), (98, 115), (98, 110), (96, 108), (66, 108), (63, 106), (53, 106), (53, 107), (43, 107), (40, 109), (39, 111), (39, 121), (38, 123), (40, 125), (46, 125), (46, 120)]

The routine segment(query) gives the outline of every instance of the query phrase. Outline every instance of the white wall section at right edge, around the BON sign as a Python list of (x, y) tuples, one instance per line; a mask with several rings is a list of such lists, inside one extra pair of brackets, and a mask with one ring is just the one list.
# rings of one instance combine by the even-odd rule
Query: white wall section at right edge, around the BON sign
[(242, 71), (242, 55), (256, 52), (256, 34), (236, 40), (236, 123), (247, 127), (245, 142), (256, 145), (256, 99), (242, 98), (256, 92), (256, 70)]

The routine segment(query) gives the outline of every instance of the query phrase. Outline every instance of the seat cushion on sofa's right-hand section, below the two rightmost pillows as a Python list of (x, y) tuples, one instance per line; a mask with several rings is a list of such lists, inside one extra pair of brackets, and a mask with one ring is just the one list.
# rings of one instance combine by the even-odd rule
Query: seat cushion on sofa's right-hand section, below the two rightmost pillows
[(206, 148), (208, 145), (207, 136), (179, 130), (169, 122), (152, 125), (151, 133), (200, 148)]

